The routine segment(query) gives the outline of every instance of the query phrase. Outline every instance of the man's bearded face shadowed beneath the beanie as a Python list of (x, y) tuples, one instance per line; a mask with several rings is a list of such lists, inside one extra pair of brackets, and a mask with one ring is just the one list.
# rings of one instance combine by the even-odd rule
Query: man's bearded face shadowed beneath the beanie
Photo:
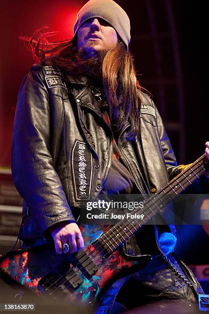
[(116, 30), (102, 18), (89, 18), (78, 29), (77, 47), (85, 49), (87, 57), (94, 56), (97, 51), (110, 50), (117, 42)]

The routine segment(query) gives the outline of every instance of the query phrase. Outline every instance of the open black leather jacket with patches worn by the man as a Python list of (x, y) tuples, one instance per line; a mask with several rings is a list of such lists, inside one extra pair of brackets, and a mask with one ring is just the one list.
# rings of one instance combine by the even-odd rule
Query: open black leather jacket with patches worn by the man
[[(126, 125), (118, 147), (136, 186), (141, 175), (152, 193), (181, 169), (155, 104), (148, 94), (142, 92), (141, 98), (140, 139), (126, 140)], [(78, 165), (79, 149), (86, 166)], [(112, 149), (112, 131), (88, 78), (32, 66), (18, 94), (11, 152), (14, 184), (24, 199), (21, 239), (41, 238), (57, 222), (74, 221), (72, 210), (79, 208), (80, 195), (95, 199), (106, 183)], [(83, 167), (87, 185), (78, 180)], [(175, 233), (173, 212), (162, 210), (161, 217)]]

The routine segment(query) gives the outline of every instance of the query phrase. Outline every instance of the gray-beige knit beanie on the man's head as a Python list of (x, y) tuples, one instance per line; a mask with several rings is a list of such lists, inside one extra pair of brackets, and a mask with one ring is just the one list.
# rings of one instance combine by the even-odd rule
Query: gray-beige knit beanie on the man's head
[(92, 17), (105, 19), (117, 31), (127, 51), (131, 40), (130, 19), (127, 13), (113, 0), (90, 0), (78, 12), (73, 28), (74, 35), (81, 24)]

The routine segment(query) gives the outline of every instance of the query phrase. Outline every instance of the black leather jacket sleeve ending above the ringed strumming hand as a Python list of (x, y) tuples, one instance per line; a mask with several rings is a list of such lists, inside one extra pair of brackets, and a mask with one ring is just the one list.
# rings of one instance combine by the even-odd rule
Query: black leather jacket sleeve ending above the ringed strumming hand
[(50, 154), (50, 103), (40, 70), (18, 93), (11, 149), (14, 184), (44, 235), (57, 222), (75, 221)]

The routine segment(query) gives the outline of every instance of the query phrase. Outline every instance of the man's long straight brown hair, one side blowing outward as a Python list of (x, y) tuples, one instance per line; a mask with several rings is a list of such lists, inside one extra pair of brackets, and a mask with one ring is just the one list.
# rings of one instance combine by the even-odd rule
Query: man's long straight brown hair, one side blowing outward
[[(98, 65), (98, 58), (83, 58), (77, 51), (76, 36), (70, 40), (51, 41), (57, 32), (38, 29), (32, 37), (20, 37), (29, 43), (29, 48), (36, 62), (43, 65), (56, 65), (71, 75), (88, 72), (91, 65)], [(106, 51), (99, 63), (103, 88), (118, 128), (131, 122), (129, 139), (134, 139), (139, 129), (141, 106), (140, 84), (136, 77), (133, 57), (119, 40), (116, 47)]]

